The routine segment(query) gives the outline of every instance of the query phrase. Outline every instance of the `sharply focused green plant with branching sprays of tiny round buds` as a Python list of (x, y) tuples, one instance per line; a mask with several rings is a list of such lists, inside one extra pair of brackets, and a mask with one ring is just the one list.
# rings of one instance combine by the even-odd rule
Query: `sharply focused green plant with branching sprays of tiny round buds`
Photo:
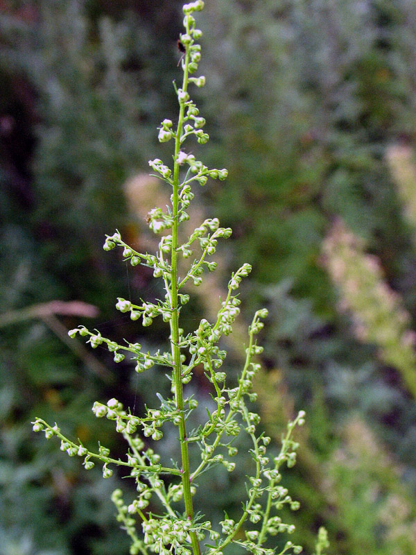
[[(112, 495), (117, 519), (131, 538), (131, 554), (199, 555), (203, 552), (223, 555), (223, 550), (232, 544), (257, 555), (297, 554), (302, 550), (300, 545), (287, 541), (278, 548), (268, 538), (295, 531), (293, 524), (282, 521), (279, 511), (284, 506), (295, 510), (299, 504), (280, 481), (283, 466), (295, 464), (298, 445), (292, 434), (296, 425), (303, 424), (304, 411), (288, 423), (280, 450), (273, 453), (271, 448), (269, 454), (270, 438), (259, 429), (260, 417), (250, 405), (257, 399), (252, 391), (252, 379), (260, 369), (254, 357), (262, 352), (255, 336), (263, 327), (261, 319), (266, 318), (266, 309), (257, 311), (250, 324), (248, 341), (244, 345), (245, 362), (238, 380), (230, 384), (227, 373), (220, 370), (227, 355), (220, 348), (221, 336), (232, 332), (234, 320), (239, 315), (240, 300), (236, 290), (250, 273), (250, 264), (243, 264), (232, 273), (213, 322), (202, 318), (193, 332), (184, 332), (180, 327), (181, 309), (189, 301), (189, 295), (183, 289), (185, 284), (193, 282), (198, 286), (205, 271), (216, 269), (216, 262), (211, 262), (210, 257), (216, 252), (218, 239), (227, 239), (232, 233), (230, 228), (221, 228), (218, 219), (214, 218), (205, 219), (188, 237), (180, 234), (181, 224), (189, 219), (187, 210), (194, 196), (192, 186), (205, 185), (209, 178), (227, 178), (226, 169), (209, 169), (184, 146), (192, 137), (199, 144), (205, 144), (209, 139), (204, 130), (205, 119), (200, 116), (189, 92), (191, 85), (205, 85), (205, 77), (194, 76), (201, 56), (197, 41), (202, 35), (196, 27), (194, 12), (203, 7), (202, 0), (183, 7), (184, 33), (178, 42), (184, 55), (181, 60), (183, 79), (180, 87), (175, 85), (179, 114), (175, 123), (164, 119), (159, 128), (159, 142), (174, 145), (172, 159), (167, 164), (158, 158), (149, 162), (157, 178), (171, 192), (171, 205), (166, 210), (156, 207), (148, 214), (150, 229), (162, 234), (157, 253), (137, 252), (123, 241), (118, 231), (107, 236), (104, 244), (105, 250), (121, 247), (125, 261), (132, 266), (151, 268), (154, 277), (162, 280), (163, 298), (153, 302), (119, 298), (116, 308), (123, 314), (130, 314), (132, 321), (141, 321), (145, 327), (150, 326), (154, 318), (162, 317), (168, 326), (168, 341), (156, 352), (144, 352), (139, 343), (125, 341), (119, 344), (84, 326), (69, 332), (71, 337), (79, 334), (87, 338), (92, 348), (106, 347), (114, 353), (116, 363), (127, 355), (134, 362), (137, 373), (162, 366), (171, 382), (171, 398), (163, 398), (157, 393), (159, 405), (156, 408), (146, 406), (140, 417), (130, 409), (124, 409), (116, 398), (107, 403), (94, 403), (95, 416), (114, 420), (116, 431), (126, 441), (126, 454), (119, 459), (114, 458), (105, 445), (99, 445), (98, 452), (92, 452), (80, 441), (71, 441), (58, 425), (49, 425), (42, 418), (33, 422), (33, 429), (35, 432), (43, 430), (46, 438), (59, 438), (61, 450), (69, 456), (83, 458), (87, 470), (99, 462), (103, 465), (103, 477), (111, 477), (113, 468), (122, 467), (135, 480), (137, 497), (132, 503), (123, 501), (119, 489)], [(178, 270), (180, 258), (191, 261), (184, 275)], [(187, 420), (198, 406), (198, 400), (191, 395), (187, 384), (197, 368), (203, 368), (205, 372), (214, 407), (207, 407), (207, 421), (191, 430)], [(155, 451), (154, 443), (162, 439), (166, 429), (176, 431), (180, 453)], [(236, 520), (225, 513), (223, 520), (215, 524), (196, 511), (198, 495), (203, 495), (197, 493), (196, 486), (202, 472), (209, 468), (219, 466), (223, 467), (223, 472), (234, 471), (236, 463), (232, 458), (238, 452), (235, 441), (241, 433), (247, 434), (251, 442), (252, 470), (246, 481), (247, 496), (242, 499), (241, 514)], [(200, 462), (192, 468), (190, 450), (200, 452)], [(317, 553), (322, 554), (325, 546), (326, 538), (321, 532)]]

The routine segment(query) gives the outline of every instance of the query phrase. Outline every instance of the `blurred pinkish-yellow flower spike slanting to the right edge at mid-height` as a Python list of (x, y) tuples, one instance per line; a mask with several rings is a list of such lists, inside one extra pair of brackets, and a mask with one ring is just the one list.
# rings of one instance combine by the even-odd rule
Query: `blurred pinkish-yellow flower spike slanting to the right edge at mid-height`
[(374, 343), (381, 359), (401, 373), (416, 396), (415, 334), (401, 298), (385, 282), (376, 257), (365, 253), (363, 241), (338, 221), (323, 245), (325, 261), (340, 291), (340, 309), (349, 311), (354, 334)]

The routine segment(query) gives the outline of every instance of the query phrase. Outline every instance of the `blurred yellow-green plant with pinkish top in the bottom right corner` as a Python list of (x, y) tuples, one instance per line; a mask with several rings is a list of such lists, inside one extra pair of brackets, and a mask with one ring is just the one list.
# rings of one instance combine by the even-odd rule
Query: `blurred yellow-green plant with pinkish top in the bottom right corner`
[(403, 469), (360, 418), (350, 418), (342, 436), (324, 467), (324, 492), (337, 507), (348, 553), (413, 555), (416, 510)]

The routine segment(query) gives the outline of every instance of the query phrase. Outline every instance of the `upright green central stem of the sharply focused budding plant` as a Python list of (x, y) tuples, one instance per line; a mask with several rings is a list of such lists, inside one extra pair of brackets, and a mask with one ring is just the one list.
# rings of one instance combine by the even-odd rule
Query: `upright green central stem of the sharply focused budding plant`
[[(184, 79), (182, 89), (187, 90), (188, 85), (188, 65), (189, 65), (189, 51), (187, 50), (184, 62)], [(178, 312), (178, 298), (177, 298), (177, 226), (179, 223), (179, 164), (177, 164), (177, 155), (180, 151), (180, 139), (182, 136), (182, 128), (184, 124), (184, 102), (180, 103), (179, 121), (177, 123), (176, 137), (175, 137), (175, 166), (173, 170), (173, 228), (172, 228), (172, 281), (171, 281), (171, 305), (172, 305), (172, 318), (171, 318), (171, 341), (172, 341), (172, 356), (174, 363), (173, 379), (175, 382), (175, 401), (176, 408), (180, 416), (179, 425), (179, 438), (180, 438), (180, 452), (182, 457), (182, 490), (184, 493), (185, 511), (189, 521), (193, 520), (193, 504), (191, 497), (191, 481), (189, 472), (189, 452), (187, 443), (187, 427), (184, 416), (184, 399), (182, 388), (182, 362), (180, 361), (180, 347), (179, 347), (179, 312)], [(190, 533), (193, 555), (200, 555), (200, 545), (195, 532)]]

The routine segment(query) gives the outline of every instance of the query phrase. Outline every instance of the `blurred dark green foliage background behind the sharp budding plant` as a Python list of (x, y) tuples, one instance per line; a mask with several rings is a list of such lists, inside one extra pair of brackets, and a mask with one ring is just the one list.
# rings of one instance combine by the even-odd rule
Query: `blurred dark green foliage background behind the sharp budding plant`
[[(117, 455), (92, 403), (115, 395), (139, 410), (157, 390), (157, 372), (138, 381), (66, 330), (88, 318), (115, 339), (164, 337), (116, 313), (116, 296), (157, 290), (101, 246), (116, 227), (154, 243), (144, 220), (166, 191), (147, 160), (168, 152), (155, 127), (175, 117), (180, 4), (0, 1), (3, 555), (128, 552), (109, 497), (129, 484), (86, 474), (29, 422), (58, 420)], [(203, 160), (229, 179), (196, 191), (196, 223), (218, 215), (234, 234), (185, 325), (252, 263), (245, 314), (270, 309), (257, 383), (266, 433), (279, 441), (295, 409), (308, 413), (286, 477), (302, 502), (288, 515), (296, 543), (311, 553), (325, 524), (331, 554), (415, 554), (416, 5), (208, 0), (200, 26)], [(228, 339), (230, 371), (245, 324)], [(200, 509), (238, 511), (244, 475), (211, 477)]]

